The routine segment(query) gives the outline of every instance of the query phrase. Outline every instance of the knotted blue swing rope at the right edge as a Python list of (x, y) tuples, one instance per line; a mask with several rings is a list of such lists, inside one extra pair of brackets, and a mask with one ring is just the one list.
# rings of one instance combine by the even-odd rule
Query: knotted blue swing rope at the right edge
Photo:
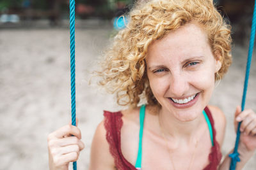
[[(251, 31), (251, 36), (250, 36), (250, 46), (248, 50), (248, 58), (247, 58), (247, 64), (246, 64), (246, 74), (244, 78), (244, 91), (243, 91), (243, 99), (242, 99), (242, 111), (244, 110), (244, 104), (245, 104), (245, 99), (246, 99), (246, 91), (248, 87), (248, 80), (249, 80), (249, 74), (250, 74), (250, 66), (251, 66), (251, 61), (252, 61), (252, 53), (253, 53), (253, 46), (254, 46), (254, 41), (255, 41), (255, 29), (256, 29), (256, 0), (254, 4), (254, 10), (253, 10), (253, 19), (252, 19), (252, 31)], [(237, 152), (237, 148), (239, 145), (239, 139), (240, 139), (240, 126), (241, 122), (239, 122), (237, 126), (237, 136), (236, 136), (236, 145), (234, 148), (234, 152), (229, 155), (231, 158), (230, 162), (230, 170), (235, 170), (236, 169), (236, 163), (240, 162), (239, 159), (239, 153)]]

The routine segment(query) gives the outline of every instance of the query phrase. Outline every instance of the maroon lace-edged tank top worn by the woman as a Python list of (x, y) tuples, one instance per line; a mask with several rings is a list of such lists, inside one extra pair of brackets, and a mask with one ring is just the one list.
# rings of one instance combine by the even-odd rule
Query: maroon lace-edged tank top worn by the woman
[[(205, 108), (205, 113), (207, 114), (211, 126), (212, 126), (212, 136), (214, 141), (214, 146), (211, 148), (211, 153), (209, 154), (209, 164), (204, 168), (204, 170), (216, 170), (221, 160), (220, 145), (216, 141), (216, 130), (214, 128), (214, 120), (211, 115), (209, 108)], [(106, 129), (106, 139), (109, 143), (109, 152), (115, 159), (115, 166), (117, 169), (124, 170), (137, 170), (128, 160), (125, 159), (121, 151), (121, 128), (123, 125), (122, 113), (104, 111), (104, 127)]]

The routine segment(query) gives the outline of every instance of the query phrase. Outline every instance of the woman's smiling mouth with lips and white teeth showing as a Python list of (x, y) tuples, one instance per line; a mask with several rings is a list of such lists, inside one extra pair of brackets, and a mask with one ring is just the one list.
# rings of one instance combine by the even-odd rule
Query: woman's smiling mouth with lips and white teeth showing
[(170, 99), (173, 106), (175, 106), (176, 108), (188, 108), (193, 106), (196, 103), (199, 94), (200, 92), (192, 96), (186, 97), (184, 99), (175, 99), (172, 97), (168, 97), (168, 99)]

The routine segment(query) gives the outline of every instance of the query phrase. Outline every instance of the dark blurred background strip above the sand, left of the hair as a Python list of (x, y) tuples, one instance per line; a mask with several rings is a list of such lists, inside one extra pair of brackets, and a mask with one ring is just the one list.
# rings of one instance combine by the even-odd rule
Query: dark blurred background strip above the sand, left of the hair
[[(76, 1), (77, 20), (111, 20), (124, 14), (133, 0)], [(68, 24), (68, 0), (1, 0), (1, 27), (63, 27)]]

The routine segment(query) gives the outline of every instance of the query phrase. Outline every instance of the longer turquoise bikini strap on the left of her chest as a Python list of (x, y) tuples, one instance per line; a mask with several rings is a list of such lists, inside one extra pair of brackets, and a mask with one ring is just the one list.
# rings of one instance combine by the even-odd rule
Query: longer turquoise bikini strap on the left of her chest
[(145, 110), (146, 106), (142, 105), (140, 108), (140, 142), (139, 142), (139, 150), (138, 150), (138, 156), (136, 160), (135, 167), (141, 168), (141, 157), (142, 157), (142, 136), (143, 136), (143, 125), (144, 125), (144, 118), (145, 118)]

